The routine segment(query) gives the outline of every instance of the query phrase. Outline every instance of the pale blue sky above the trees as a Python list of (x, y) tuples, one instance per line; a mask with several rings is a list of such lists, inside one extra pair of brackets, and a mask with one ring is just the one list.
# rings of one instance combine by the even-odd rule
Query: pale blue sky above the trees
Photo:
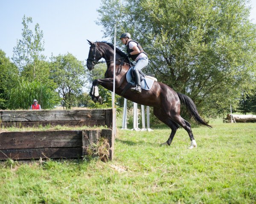
[[(84, 61), (88, 57), (90, 41), (102, 38), (102, 27), (95, 21), (101, 0), (0, 0), (0, 49), (12, 58), (17, 39), (22, 39), (22, 18), (32, 17), (35, 28), (38, 23), (44, 34), (44, 55), (73, 54)], [(250, 19), (256, 23), (256, 0)], [(118, 28), (117, 28), (118, 29)]]

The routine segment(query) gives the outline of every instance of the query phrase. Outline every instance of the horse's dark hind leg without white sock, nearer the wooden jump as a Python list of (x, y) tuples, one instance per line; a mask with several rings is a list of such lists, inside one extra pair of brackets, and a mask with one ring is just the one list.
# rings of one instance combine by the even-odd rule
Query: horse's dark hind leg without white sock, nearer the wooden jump
[(167, 116), (161, 109), (159, 108), (154, 108), (154, 115), (157, 116), (157, 118), (162, 121), (164, 124), (168, 125), (171, 129), (172, 132), (169, 136), (169, 139), (164, 142), (162, 145), (164, 144), (168, 144), (171, 145), (172, 144), (172, 139), (175, 136), (175, 133), (177, 131), (177, 129), (179, 128), (179, 125), (175, 122), (173, 122), (169, 116)]

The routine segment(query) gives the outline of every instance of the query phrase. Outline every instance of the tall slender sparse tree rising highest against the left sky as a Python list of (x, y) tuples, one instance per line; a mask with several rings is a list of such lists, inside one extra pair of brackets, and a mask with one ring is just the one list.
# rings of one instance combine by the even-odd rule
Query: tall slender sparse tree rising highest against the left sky
[(21, 75), (29, 81), (41, 79), (44, 67), (40, 66), (40, 61), (44, 61), (43, 31), (38, 23), (35, 25), (35, 33), (29, 29), (29, 24), (33, 23), (32, 17), (23, 16), (22, 19), (22, 39), (17, 40), (17, 46), (13, 48), (13, 62), (19, 68)]

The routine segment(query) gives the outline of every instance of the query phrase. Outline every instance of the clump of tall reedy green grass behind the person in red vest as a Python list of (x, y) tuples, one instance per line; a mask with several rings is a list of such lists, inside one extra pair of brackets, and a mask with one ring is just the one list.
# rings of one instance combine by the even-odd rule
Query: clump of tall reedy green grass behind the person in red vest
[(37, 99), (43, 109), (54, 108), (60, 102), (58, 93), (53, 92), (49, 85), (21, 80), (9, 92), (8, 108), (29, 109), (33, 99)]

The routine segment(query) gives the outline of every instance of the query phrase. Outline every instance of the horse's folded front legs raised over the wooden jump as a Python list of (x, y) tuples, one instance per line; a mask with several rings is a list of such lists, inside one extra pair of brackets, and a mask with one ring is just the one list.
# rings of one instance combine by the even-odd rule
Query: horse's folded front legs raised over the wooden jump
[(98, 85), (102, 85), (104, 88), (113, 91), (113, 78), (106, 79), (95, 79), (93, 81), (92, 88), (90, 90), (90, 96), (92, 97), (93, 102), (102, 103), (102, 97), (99, 96), (99, 87)]

